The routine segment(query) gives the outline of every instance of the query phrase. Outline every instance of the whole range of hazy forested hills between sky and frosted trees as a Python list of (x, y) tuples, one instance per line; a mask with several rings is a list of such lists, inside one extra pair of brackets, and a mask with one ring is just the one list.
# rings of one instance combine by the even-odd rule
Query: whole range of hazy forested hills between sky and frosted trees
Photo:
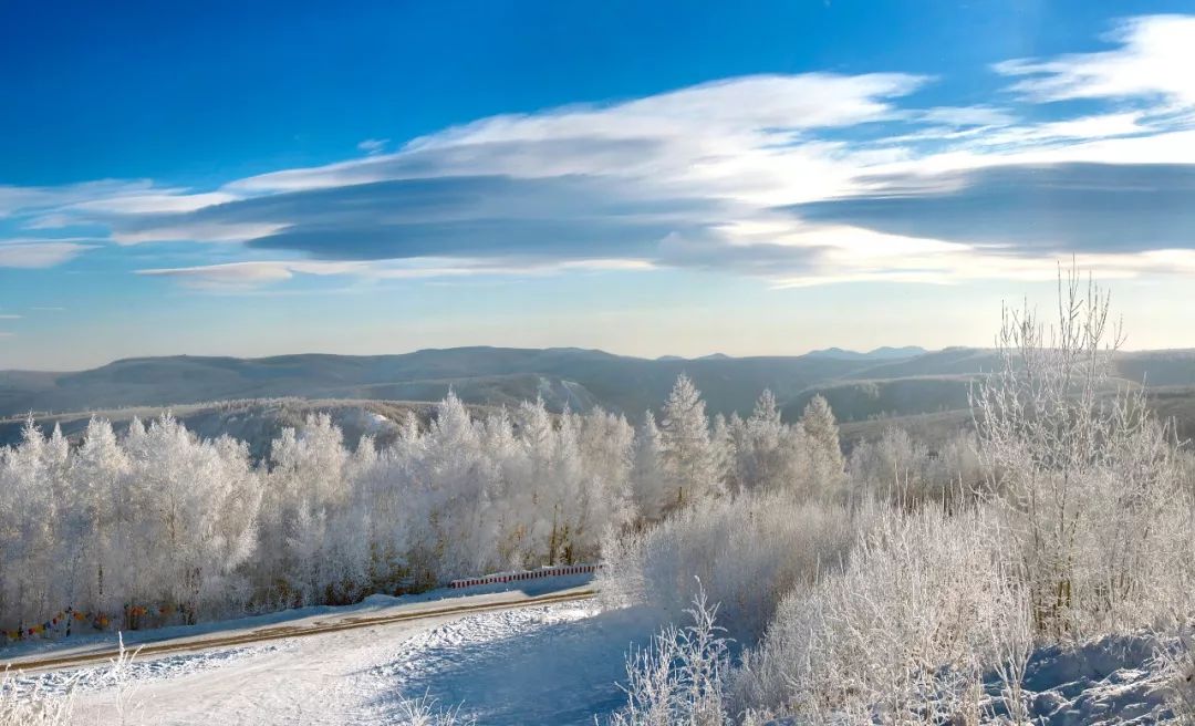
[[(0, 371), (0, 444), (13, 440), (30, 411), (78, 429), (88, 411), (121, 420), (170, 407), (206, 434), (244, 431), (251, 438), (252, 432), (264, 437), (293, 425), (301, 411), (317, 408), (350, 422), (348, 428), (366, 431), (362, 421), (392, 419), (393, 411), (415, 407), (427, 415), (430, 409), (419, 404), (449, 390), (472, 405), (511, 405), (539, 396), (553, 410), (600, 405), (638, 421), (644, 410), (658, 410), (680, 373), (701, 389), (711, 415), (747, 415), (759, 393), (771, 389), (788, 419), (823, 395), (840, 421), (865, 422), (966, 409), (970, 383), (998, 365), (992, 350), (931, 353), (917, 347), (656, 360), (580, 348), (489, 347), (373, 356), (136, 358), (69, 373)], [(1193, 350), (1126, 353), (1116, 366), (1127, 380), (1172, 389), (1172, 410), (1183, 410), (1184, 386), (1195, 386)], [(280, 398), (306, 403), (280, 404)], [(227, 401), (241, 401), (241, 408), (212, 404)]]

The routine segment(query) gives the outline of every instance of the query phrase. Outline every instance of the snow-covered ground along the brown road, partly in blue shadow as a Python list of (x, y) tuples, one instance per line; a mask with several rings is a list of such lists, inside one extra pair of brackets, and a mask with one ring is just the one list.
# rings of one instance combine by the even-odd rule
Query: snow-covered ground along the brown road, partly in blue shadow
[[(459, 602), (502, 600), (511, 594), (520, 592), (473, 594)], [(237, 623), (202, 629), (227, 635), (277, 622), (327, 622), (411, 606), (391, 600), (370, 598), (354, 608), (314, 614), (292, 611), (270, 616), (268, 622), (241, 623), (239, 630)], [(125, 719), (221, 726), (397, 724), (403, 696), (427, 695), (445, 706), (461, 706), (479, 724), (593, 724), (595, 713), (623, 703), (615, 685), (623, 676), (623, 657), (632, 641), (642, 641), (650, 630), (650, 621), (635, 611), (599, 612), (592, 602), (576, 602), (142, 657), (131, 667), (134, 718)], [(99, 643), (84, 646), (94, 647)], [(20, 684), (53, 689), (65, 677), (62, 672), (31, 673)], [(103, 683), (84, 685), (75, 697), (79, 722), (120, 722), (116, 697)]]

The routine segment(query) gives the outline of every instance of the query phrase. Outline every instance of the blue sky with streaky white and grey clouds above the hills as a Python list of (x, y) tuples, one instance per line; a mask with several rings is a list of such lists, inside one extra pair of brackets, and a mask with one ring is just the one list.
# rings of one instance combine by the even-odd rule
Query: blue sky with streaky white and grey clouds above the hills
[(1184, 11), (6, 4), (0, 368), (985, 344), (1072, 256), (1195, 346)]

